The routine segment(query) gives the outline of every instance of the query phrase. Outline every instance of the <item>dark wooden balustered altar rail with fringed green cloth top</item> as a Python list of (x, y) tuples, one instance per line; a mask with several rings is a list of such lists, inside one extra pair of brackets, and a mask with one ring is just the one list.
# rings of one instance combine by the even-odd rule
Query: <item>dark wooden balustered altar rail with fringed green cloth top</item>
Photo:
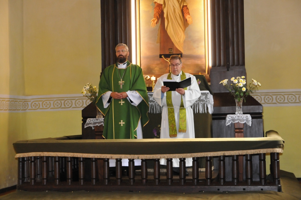
[[(264, 138), (123, 139), (81, 140), (61, 137), (15, 142), (18, 158), (17, 189), (27, 191), (251, 191), (281, 192), (279, 153), (284, 141), (277, 132)], [(265, 156), (270, 153), (271, 175)], [(253, 181), (252, 155), (259, 154), (259, 181)], [(239, 181), (238, 157), (245, 155), (244, 181)], [(219, 158), (219, 175), (212, 179), (212, 158)], [(225, 156), (232, 156), (232, 181), (225, 181)], [(205, 178), (199, 177), (199, 157), (206, 158)], [(91, 158), (91, 168), (85, 167)], [(128, 176), (122, 158), (129, 160)], [(134, 159), (141, 159), (141, 175), (135, 175)], [(160, 177), (160, 158), (166, 158), (166, 175)], [(173, 177), (172, 159), (180, 159), (180, 173)], [(192, 178), (186, 178), (185, 158), (193, 159)], [(109, 176), (109, 159), (116, 159), (116, 176)], [(147, 159), (154, 172), (147, 173)], [(85, 169), (86, 168), (86, 169)], [(91, 181), (85, 172), (91, 171)], [(148, 177), (149, 176), (149, 177)]]

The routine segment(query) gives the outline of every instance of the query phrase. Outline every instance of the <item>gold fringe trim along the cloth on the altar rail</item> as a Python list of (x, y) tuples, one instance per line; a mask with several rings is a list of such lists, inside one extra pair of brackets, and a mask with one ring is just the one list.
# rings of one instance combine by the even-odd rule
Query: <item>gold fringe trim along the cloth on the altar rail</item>
[(206, 156), (220, 156), (220, 155), (245, 155), (245, 154), (260, 154), (260, 153), (283, 153), (281, 148), (265, 148), (253, 149), (243, 151), (225, 151), (225, 152), (205, 152), (205, 153), (191, 153), (191, 154), (157, 154), (157, 155), (123, 155), (123, 154), (82, 154), (82, 153), (61, 153), (61, 152), (31, 152), (20, 153), (15, 158), (29, 157), (29, 156), (59, 156), (59, 157), (79, 157), (79, 158), (128, 158), (128, 159), (154, 159), (154, 158), (193, 158)]

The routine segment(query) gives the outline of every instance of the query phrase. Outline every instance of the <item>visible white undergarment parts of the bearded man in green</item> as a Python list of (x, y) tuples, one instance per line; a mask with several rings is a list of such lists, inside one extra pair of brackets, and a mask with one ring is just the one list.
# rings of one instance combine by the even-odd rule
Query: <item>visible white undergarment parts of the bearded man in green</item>
[[(125, 68), (126, 68), (126, 62), (123, 63), (123, 64), (118, 63), (118, 69), (125, 69)], [(104, 95), (101, 96), (102, 97), (102, 102), (104, 103), (104, 108), (107, 108), (110, 105), (111, 101), (112, 101), (112, 97), (110, 97), (111, 93), (112, 93), (111, 91), (108, 91)], [(142, 101), (142, 97), (136, 91), (127, 91), (126, 94), (128, 95), (127, 99), (134, 106), (137, 106)], [(138, 122), (137, 139), (143, 139), (141, 121)], [(134, 162), (135, 162), (135, 166), (141, 165), (141, 159), (135, 159)], [(110, 163), (110, 167), (115, 167), (116, 166), (116, 160), (115, 159), (110, 159), (109, 163)], [(122, 159), (122, 166), (129, 166), (129, 160), (128, 159)]]

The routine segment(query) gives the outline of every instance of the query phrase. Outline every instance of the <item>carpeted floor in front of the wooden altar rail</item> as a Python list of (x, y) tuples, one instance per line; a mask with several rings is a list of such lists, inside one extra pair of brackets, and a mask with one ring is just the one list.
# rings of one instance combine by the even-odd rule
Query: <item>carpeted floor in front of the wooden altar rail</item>
[(78, 200), (78, 199), (224, 199), (224, 200), (254, 200), (254, 199), (266, 199), (266, 200), (297, 200), (301, 199), (301, 186), (295, 175), (290, 172), (281, 170), (281, 185), (283, 192), (200, 192), (200, 193), (172, 193), (172, 192), (26, 192), (16, 191), (4, 196), (0, 196), (0, 200), (19, 200), (19, 199), (66, 199), (66, 200)]

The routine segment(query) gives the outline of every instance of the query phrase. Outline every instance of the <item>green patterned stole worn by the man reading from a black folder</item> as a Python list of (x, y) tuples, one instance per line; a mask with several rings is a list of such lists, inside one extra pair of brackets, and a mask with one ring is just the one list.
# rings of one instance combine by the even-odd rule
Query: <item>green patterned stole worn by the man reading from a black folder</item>
[[(167, 79), (172, 80), (171, 73), (168, 74)], [(186, 79), (185, 73), (182, 71), (181, 81)], [(187, 90), (187, 87), (184, 88)], [(172, 91), (166, 92), (166, 104), (168, 113), (169, 137), (177, 136), (177, 127), (175, 125), (175, 111), (172, 104)], [(179, 116), (179, 133), (186, 133), (186, 108), (184, 108), (183, 98), (181, 96), (180, 116)]]

